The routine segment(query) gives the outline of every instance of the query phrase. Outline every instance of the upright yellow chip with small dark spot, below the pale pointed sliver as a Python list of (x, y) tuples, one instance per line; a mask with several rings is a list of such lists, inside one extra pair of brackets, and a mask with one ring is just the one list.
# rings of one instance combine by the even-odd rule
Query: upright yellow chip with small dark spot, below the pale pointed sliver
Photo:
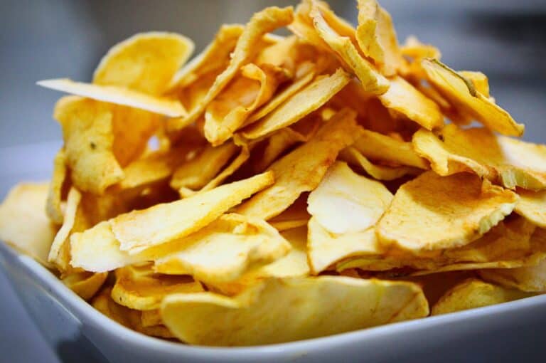
[(124, 177), (112, 147), (112, 110), (107, 103), (68, 96), (55, 105), (63, 127), (70, 177), (81, 191), (102, 194)]

